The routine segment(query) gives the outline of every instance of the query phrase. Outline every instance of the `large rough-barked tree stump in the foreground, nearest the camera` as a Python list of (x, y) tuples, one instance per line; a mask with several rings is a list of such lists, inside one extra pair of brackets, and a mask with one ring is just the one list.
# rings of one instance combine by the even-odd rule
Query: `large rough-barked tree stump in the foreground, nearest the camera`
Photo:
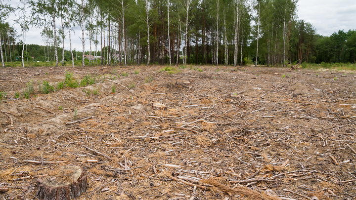
[(87, 175), (78, 166), (67, 165), (37, 180), (38, 198), (72, 200), (87, 190)]

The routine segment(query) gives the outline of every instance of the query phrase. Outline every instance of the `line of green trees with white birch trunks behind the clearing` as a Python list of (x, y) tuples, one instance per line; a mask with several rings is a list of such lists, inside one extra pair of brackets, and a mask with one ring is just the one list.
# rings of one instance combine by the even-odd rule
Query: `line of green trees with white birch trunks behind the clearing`
[[(29, 56), (55, 61), (56, 66), (65, 61), (74, 66), (79, 59), (84, 66), (85, 55), (89, 65), (355, 63), (356, 31), (317, 35), (312, 24), (298, 19), (297, 2), (20, 0), (18, 7), (11, 7), (1, 1), (2, 66)], [(4, 21), (16, 9), (21, 33)], [(43, 30), (45, 46), (25, 45), (31, 26)], [(82, 30), (80, 53), (71, 47), (75, 27)], [(68, 45), (70, 51), (65, 50)]]

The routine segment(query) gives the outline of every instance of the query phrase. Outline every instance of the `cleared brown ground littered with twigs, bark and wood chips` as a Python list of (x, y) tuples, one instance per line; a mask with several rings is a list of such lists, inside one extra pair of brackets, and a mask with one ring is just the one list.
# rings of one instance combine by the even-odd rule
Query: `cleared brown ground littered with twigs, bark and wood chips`
[[(36, 199), (37, 179), (67, 164), (88, 175), (80, 200), (356, 198), (354, 74), (162, 68), (2, 69), (0, 199)], [(101, 81), (38, 91), (66, 70)], [(30, 80), (36, 96), (14, 99)]]

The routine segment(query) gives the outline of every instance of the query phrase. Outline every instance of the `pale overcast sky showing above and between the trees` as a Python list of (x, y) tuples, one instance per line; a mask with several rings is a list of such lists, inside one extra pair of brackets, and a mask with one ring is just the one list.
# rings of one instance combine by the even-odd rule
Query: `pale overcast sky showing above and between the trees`
[[(17, 5), (18, 0), (10, 0), (10, 4)], [(339, 30), (345, 32), (350, 29), (356, 30), (356, 0), (299, 0), (297, 13), (299, 19), (311, 23), (319, 35), (330, 36)], [(20, 34), (20, 26), (12, 19), (16, 19), (13, 14), (6, 21), (9, 21)], [(59, 28), (60, 21), (57, 20), (56, 25)], [(81, 34), (80, 28), (75, 30), (75, 35), (72, 33), (72, 49), (81, 51), (82, 43), (79, 39)], [(66, 38), (65, 49), (69, 50), (68, 36)], [(22, 37), (19, 40), (23, 40)], [(26, 33), (26, 40), (28, 44), (44, 45), (39, 29), (30, 29)], [(89, 50), (89, 40), (86, 41), (85, 48)]]

